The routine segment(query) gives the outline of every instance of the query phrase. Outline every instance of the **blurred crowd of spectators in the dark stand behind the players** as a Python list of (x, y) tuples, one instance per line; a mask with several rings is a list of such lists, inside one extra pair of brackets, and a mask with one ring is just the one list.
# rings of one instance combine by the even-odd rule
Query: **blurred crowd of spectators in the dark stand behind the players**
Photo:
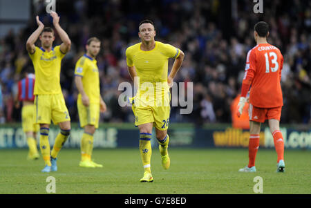
[[(170, 121), (230, 123), (230, 105), (240, 91), (247, 51), (255, 46), (253, 27), (258, 20), (263, 20), (270, 25), (269, 43), (280, 48), (284, 57), (281, 123), (310, 123), (311, 1), (294, 1), (294, 6), (283, 1), (265, 1), (264, 17), (254, 14), (254, 3), (236, 2), (236, 9), (232, 10), (231, 5), (223, 5), (219, 0), (162, 0), (152, 1), (152, 5), (149, 5), (151, 1), (138, 0), (60, 1), (56, 11), (72, 41), (70, 52), (62, 61), (61, 75), (71, 120), (78, 121), (77, 88), (73, 79), (75, 63), (85, 53), (86, 40), (95, 36), (102, 41), (97, 64), (108, 107), (101, 121), (133, 122), (131, 108), (118, 104), (122, 93), (118, 86), (121, 82), (131, 82), (125, 50), (140, 41), (138, 23), (151, 19), (156, 27), (156, 40), (185, 53), (174, 81), (194, 83), (193, 112), (181, 115), (179, 107), (172, 107)], [(73, 9), (66, 10), (69, 7)], [(42, 1), (37, 1), (32, 10), (46, 26), (52, 26)], [(20, 121), (20, 109), (15, 108), (14, 97), (23, 68), (32, 67), (26, 53), (26, 40), (36, 28), (33, 15), (26, 28), (10, 31), (0, 39), (1, 123)], [(58, 44), (57, 37), (55, 46)], [(171, 66), (173, 61), (169, 63)]]

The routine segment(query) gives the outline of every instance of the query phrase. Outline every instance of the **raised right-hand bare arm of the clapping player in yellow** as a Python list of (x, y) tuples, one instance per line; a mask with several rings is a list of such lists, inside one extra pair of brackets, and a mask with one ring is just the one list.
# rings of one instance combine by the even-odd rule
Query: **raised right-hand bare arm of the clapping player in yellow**
[(59, 16), (57, 15), (57, 13), (50, 12), (50, 16), (53, 17), (53, 25), (55, 27), (55, 30), (57, 30), (60, 39), (62, 39), (63, 41), (59, 49), (62, 51), (62, 53), (67, 53), (70, 50), (71, 46), (70, 38), (68, 37), (65, 30), (63, 30), (62, 27), (59, 25)]

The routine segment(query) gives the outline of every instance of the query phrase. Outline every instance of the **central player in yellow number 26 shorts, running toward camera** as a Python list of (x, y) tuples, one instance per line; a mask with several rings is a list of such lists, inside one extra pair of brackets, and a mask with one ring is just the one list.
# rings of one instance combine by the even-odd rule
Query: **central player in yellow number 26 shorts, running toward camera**
[[(140, 22), (138, 36), (141, 42), (126, 49), (126, 62), (129, 74), (138, 87), (138, 92), (131, 102), (135, 126), (140, 130), (140, 155), (144, 167), (144, 176), (140, 182), (153, 182), (150, 164), (152, 129), (153, 126), (156, 127), (162, 166), (169, 169), (169, 87), (173, 85), (173, 78), (185, 55), (178, 48), (155, 41), (156, 30), (150, 20)], [(167, 75), (169, 58), (175, 59), (175, 62), (171, 73)]]

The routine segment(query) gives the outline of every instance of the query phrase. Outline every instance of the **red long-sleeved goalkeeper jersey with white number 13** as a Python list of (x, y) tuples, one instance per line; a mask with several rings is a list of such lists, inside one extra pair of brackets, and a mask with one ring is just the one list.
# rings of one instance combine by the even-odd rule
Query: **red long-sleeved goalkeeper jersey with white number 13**
[(283, 55), (270, 44), (258, 44), (247, 53), (244, 80), (251, 80), (249, 103), (258, 108), (283, 106)]

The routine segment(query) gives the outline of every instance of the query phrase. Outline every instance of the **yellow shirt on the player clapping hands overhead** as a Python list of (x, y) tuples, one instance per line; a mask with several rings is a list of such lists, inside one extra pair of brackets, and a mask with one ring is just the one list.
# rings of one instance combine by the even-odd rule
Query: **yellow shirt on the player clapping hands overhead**
[(59, 46), (52, 48), (50, 52), (36, 46), (35, 53), (30, 54), (30, 59), (35, 68), (35, 95), (62, 93), (60, 86), (60, 70), (63, 57)]

